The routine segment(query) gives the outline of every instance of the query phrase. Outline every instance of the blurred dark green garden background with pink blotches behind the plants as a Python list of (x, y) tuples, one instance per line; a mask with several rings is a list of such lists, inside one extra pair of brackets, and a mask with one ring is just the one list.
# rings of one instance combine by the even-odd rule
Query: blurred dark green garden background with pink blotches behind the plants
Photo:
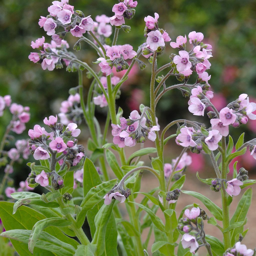
[[(93, 19), (96, 15), (101, 14), (112, 16), (112, 6), (115, 3), (116, 1), (113, 0), (70, 0), (69, 2), (75, 6), (75, 9), (82, 10), (85, 16), (91, 15)], [(51, 40), (44, 29), (38, 25), (38, 19), (40, 16), (48, 14), (47, 8), (50, 5), (51, 1), (2, 0), (0, 2), (0, 95), (10, 94), (13, 102), (29, 106), (31, 112), (31, 119), (26, 125), (27, 130), (21, 135), (16, 135), (16, 138), (27, 138), (28, 129), (31, 129), (35, 124), (42, 125), (42, 120), (46, 116), (59, 113), (60, 103), (69, 96), (68, 89), (77, 86), (77, 73), (68, 73), (65, 68), (44, 71), (41, 65), (34, 64), (28, 59), (28, 55), (33, 51), (30, 47), (32, 40), (35, 41), (42, 36), (45, 36), (46, 42)], [(204, 34), (203, 41), (212, 45), (211, 68), (207, 71), (211, 75), (209, 83), (212, 91), (214, 91), (214, 98), (211, 101), (218, 110), (237, 99), (241, 93), (247, 93), (250, 101), (256, 102), (255, 0), (138, 1), (134, 18), (125, 20), (125, 25), (131, 26), (131, 32), (126, 34), (120, 31), (118, 44), (131, 44), (134, 50), (137, 50), (137, 47), (145, 42), (143, 36), (144, 17), (147, 15), (154, 16), (154, 12), (159, 14), (159, 27), (167, 31), (172, 41), (176, 41), (176, 37), (179, 35), (184, 36), (186, 34), (188, 36), (190, 31), (195, 30), (202, 32)], [(90, 38), (89, 35), (85, 36)], [(65, 39), (69, 42), (71, 50), (76, 38), (68, 34)], [(164, 53), (158, 58), (158, 65), (169, 62), (169, 55), (171, 53), (177, 54), (177, 52), (177, 49), (171, 48), (167, 42)], [(90, 63), (95, 61), (97, 57), (95, 52), (85, 43), (82, 43), (82, 50), (75, 54), (91, 66), (93, 64)], [(149, 104), (151, 65), (144, 57), (140, 57), (140, 59), (147, 63), (148, 67), (141, 71), (135, 65), (129, 79), (121, 88), (120, 99), (117, 100), (117, 105), (124, 110), (124, 117), (128, 117), (132, 110), (138, 110), (141, 103)], [(93, 67), (98, 70), (98, 65)], [(195, 79), (196, 76), (191, 76), (190, 81), (194, 83)], [(86, 78), (84, 74), (85, 91), (89, 88), (90, 82), (91, 79)], [(169, 78), (166, 85), (177, 82), (176, 79)], [(207, 115), (205, 117), (193, 116), (187, 109), (187, 102), (188, 98), (183, 98), (179, 91), (167, 92), (157, 106), (160, 126), (163, 128), (171, 120), (180, 118), (181, 113), (182, 118), (205, 122), (210, 125)], [(11, 118), (11, 114), (7, 112), (5, 111), (4, 116), (0, 118), (0, 138)], [(105, 116), (106, 109), (97, 108), (97, 117), (100, 123), (104, 123)], [(84, 123), (79, 128), (87, 131)], [(175, 133), (175, 129), (169, 131), (169, 134)], [(230, 127), (234, 141), (238, 139), (241, 132), (245, 132), (246, 140), (256, 137), (256, 121), (250, 120), (247, 125), (237, 129)], [(84, 141), (84, 145), (88, 139), (86, 134), (86, 132), (82, 132), (80, 135), (80, 141)], [(109, 132), (109, 134), (111, 133)], [(111, 139), (109, 136), (109, 142)], [(173, 142), (167, 144), (165, 152), (167, 163), (170, 163), (172, 158), (176, 158), (179, 154), (177, 152), (181, 151), (181, 148), (174, 144)], [(13, 146), (14, 142), (13, 144), (11, 142), (5, 150)], [(130, 150), (127, 149), (127, 152)], [(134, 149), (132, 149), (133, 151)], [(197, 186), (201, 184), (195, 179), (195, 172), (199, 171), (202, 178), (207, 178), (213, 175), (212, 168), (209, 168), (209, 158), (204, 157), (204, 155), (191, 154), (191, 156), (193, 163), (186, 170), (188, 180), (185, 183), (185, 189), (194, 188), (196, 191), (200, 191)], [(33, 161), (33, 158), (30, 161)], [(249, 151), (236, 161), (239, 161), (239, 167), (243, 166), (250, 171), (250, 179), (255, 176), (256, 161), (250, 156)], [(145, 159), (145, 162), (150, 163), (148, 158)], [(15, 185), (18, 186), (28, 173), (26, 161), (16, 164), (12, 174)], [(2, 176), (3, 170), (1, 169), (0, 179)], [(146, 178), (146, 180), (150, 179)], [(209, 194), (209, 197), (216, 197), (216, 194), (212, 195), (213, 192), (211, 191)], [(255, 223), (252, 218), (248, 222), (250, 225)], [(256, 219), (254, 218), (254, 220)], [(247, 244), (251, 247), (255, 246), (252, 241)]]

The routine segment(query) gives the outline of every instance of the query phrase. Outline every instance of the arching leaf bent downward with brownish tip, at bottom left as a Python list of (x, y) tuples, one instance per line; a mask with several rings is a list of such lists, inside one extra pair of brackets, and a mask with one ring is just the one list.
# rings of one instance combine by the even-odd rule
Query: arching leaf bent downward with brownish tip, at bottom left
[(28, 249), (31, 253), (34, 251), (34, 247), (36, 246), (37, 239), (40, 235), (40, 233), (49, 226), (55, 226), (55, 227), (66, 227), (71, 225), (71, 221), (65, 220), (62, 218), (48, 218), (39, 220), (33, 227), (31, 234), (29, 236), (28, 240)]

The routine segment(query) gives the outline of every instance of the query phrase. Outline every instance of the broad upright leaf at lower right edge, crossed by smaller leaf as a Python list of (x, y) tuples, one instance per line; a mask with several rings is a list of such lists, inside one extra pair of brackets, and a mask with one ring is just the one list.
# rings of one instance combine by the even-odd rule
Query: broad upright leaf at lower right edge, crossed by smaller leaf
[[(230, 220), (230, 225), (245, 220), (247, 212), (251, 205), (251, 201), (252, 201), (252, 188), (249, 188), (244, 192), (243, 196), (241, 197), (237, 205), (236, 211), (234, 212)], [(242, 233), (242, 232), (243, 232), (243, 227), (238, 227), (231, 230), (230, 232), (231, 244), (234, 244), (236, 234)]]

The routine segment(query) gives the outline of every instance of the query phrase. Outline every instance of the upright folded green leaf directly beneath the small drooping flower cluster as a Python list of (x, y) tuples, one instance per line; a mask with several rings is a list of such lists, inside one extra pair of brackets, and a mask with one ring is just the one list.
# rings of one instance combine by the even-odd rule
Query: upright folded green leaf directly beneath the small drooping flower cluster
[(112, 214), (114, 203), (115, 200), (110, 205), (103, 205), (95, 216), (96, 231), (91, 244), (97, 244), (97, 255), (101, 255), (105, 249), (106, 228)]

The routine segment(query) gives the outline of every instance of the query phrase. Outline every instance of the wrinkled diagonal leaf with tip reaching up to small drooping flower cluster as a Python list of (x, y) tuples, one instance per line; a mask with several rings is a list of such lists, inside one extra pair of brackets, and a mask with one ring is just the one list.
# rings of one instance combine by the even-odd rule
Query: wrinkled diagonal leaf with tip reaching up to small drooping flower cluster
[(77, 227), (81, 228), (88, 210), (92, 209), (102, 198), (114, 187), (116, 179), (104, 182), (98, 186), (92, 187), (84, 197), (81, 207), (82, 210), (77, 215)]

